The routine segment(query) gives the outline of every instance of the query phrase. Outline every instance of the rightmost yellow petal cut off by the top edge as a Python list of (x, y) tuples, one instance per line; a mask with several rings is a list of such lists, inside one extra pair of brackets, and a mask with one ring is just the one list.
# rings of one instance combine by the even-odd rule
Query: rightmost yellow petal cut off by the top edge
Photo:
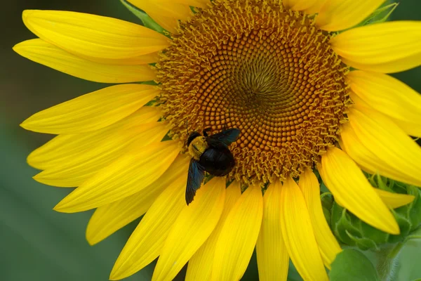
[(327, 0), (316, 17), (322, 30), (339, 31), (359, 24), (385, 0)]

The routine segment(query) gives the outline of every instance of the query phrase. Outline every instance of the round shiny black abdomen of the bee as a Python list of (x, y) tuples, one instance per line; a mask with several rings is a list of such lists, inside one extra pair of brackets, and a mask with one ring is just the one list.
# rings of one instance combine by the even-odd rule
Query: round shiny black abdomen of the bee
[(200, 157), (199, 164), (213, 176), (227, 176), (234, 168), (235, 161), (226, 147), (208, 148)]

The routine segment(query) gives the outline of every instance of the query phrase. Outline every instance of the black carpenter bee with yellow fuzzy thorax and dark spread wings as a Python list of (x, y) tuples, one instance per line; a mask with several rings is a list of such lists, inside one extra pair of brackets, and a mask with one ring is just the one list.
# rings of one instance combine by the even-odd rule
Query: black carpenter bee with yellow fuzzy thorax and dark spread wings
[(196, 190), (200, 188), (205, 171), (213, 176), (226, 176), (234, 168), (235, 161), (228, 145), (234, 143), (239, 137), (239, 129), (227, 129), (220, 133), (208, 136), (203, 130), (203, 136), (194, 131), (187, 139), (187, 148), (192, 159), (187, 175), (186, 202), (193, 201)]

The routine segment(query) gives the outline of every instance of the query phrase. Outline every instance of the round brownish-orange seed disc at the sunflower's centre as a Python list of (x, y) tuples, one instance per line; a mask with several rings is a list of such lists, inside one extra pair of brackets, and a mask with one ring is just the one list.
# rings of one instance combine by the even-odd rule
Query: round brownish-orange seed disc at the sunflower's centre
[[(263, 3), (262, 3), (263, 2)], [(213, 2), (161, 54), (158, 81), (173, 137), (238, 128), (230, 176), (299, 176), (338, 141), (348, 68), (314, 21), (279, 1)]]

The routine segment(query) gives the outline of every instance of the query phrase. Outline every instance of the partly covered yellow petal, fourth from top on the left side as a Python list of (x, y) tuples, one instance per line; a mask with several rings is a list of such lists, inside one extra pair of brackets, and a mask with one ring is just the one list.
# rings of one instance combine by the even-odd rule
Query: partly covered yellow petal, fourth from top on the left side
[[(132, 115), (105, 128), (88, 133), (60, 135), (37, 148), (28, 156), (27, 162), (36, 169), (48, 169), (66, 163), (72, 157), (80, 157), (102, 143), (112, 143), (119, 131), (141, 127), (148, 129), (148, 123), (156, 122), (162, 116), (159, 107), (144, 106)], [(146, 125), (146, 126), (145, 126)]]

